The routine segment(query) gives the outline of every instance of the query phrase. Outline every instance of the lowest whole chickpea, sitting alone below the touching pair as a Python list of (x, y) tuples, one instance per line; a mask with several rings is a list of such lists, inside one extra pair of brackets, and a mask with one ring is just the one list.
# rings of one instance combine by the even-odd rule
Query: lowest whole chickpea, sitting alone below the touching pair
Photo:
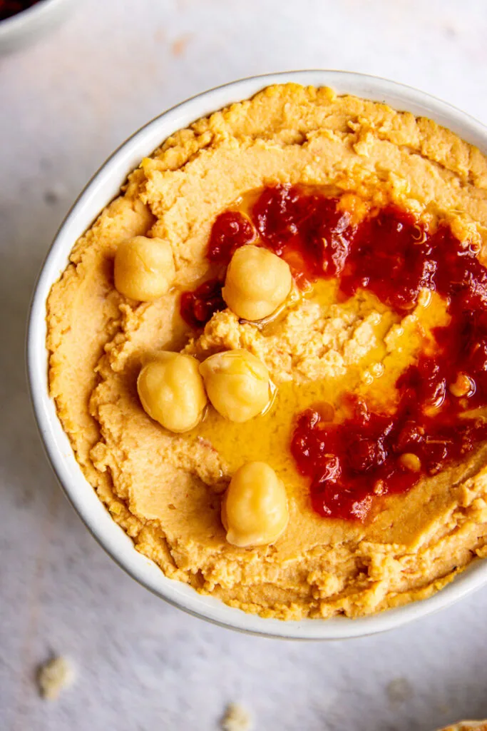
[(237, 469), (222, 503), (226, 539), (239, 548), (274, 543), (288, 525), (285, 487), (265, 462), (248, 462)]

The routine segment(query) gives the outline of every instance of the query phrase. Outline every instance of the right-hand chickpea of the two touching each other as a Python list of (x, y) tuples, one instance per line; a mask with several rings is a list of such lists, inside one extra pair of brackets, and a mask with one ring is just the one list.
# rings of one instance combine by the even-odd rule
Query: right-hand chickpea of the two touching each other
[(248, 421), (269, 405), (269, 371), (248, 350), (210, 355), (199, 366), (199, 372), (212, 405), (230, 421)]

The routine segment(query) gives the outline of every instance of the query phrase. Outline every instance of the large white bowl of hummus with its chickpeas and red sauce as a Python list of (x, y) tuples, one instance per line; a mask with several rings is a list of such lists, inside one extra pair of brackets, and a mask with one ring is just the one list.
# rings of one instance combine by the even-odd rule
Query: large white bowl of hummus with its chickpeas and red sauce
[(139, 583), (224, 626), (389, 629), (487, 581), (487, 129), (347, 72), (136, 132), (39, 276), (47, 455)]

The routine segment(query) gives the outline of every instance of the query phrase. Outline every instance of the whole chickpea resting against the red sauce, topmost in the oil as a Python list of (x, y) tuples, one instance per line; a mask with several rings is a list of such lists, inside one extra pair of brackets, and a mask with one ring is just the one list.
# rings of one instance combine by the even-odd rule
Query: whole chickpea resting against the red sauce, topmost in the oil
[(260, 246), (241, 246), (231, 257), (222, 294), (238, 317), (259, 320), (283, 304), (291, 284), (287, 262)]

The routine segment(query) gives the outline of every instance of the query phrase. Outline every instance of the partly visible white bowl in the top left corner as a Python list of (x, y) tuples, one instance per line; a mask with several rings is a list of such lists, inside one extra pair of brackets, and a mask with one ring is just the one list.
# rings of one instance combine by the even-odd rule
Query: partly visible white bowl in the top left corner
[(63, 20), (73, 0), (39, 0), (32, 7), (0, 20), (0, 54), (31, 43)]

